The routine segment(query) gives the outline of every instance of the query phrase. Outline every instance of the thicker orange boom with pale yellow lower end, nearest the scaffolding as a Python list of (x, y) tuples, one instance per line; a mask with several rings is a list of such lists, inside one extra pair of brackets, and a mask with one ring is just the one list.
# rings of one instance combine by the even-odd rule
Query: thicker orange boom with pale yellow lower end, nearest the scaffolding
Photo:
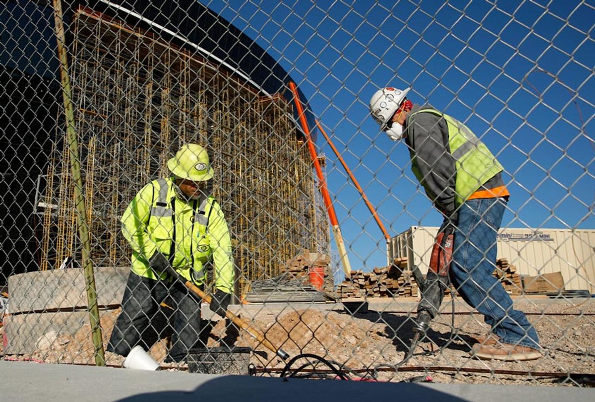
[(316, 170), (316, 174), (318, 176), (318, 187), (322, 194), (322, 200), (324, 200), (324, 205), (327, 208), (328, 219), (331, 221), (331, 226), (333, 227), (333, 234), (335, 242), (337, 244), (337, 251), (339, 251), (339, 256), (341, 258), (343, 272), (345, 272), (346, 276), (350, 276), (351, 266), (349, 264), (349, 258), (347, 258), (347, 250), (345, 248), (345, 243), (343, 242), (343, 236), (341, 235), (341, 230), (339, 228), (339, 220), (337, 220), (337, 214), (335, 213), (333, 202), (331, 202), (330, 194), (328, 194), (327, 182), (326, 180), (324, 180), (324, 175), (322, 174), (322, 168), (320, 167), (320, 162), (318, 161), (316, 148), (314, 147), (314, 142), (312, 142), (310, 129), (308, 127), (308, 121), (306, 121), (306, 114), (303, 111), (302, 102), (300, 101), (299, 95), (297, 94), (297, 87), (295, 83), (290, 82), (289, 88), (293, 92), (293, 98), (295, 99), (295, 104), (297, 107), (297, 113), (299, 114), (300, 123), (302, 124), (303, 132), (306, 135), (306, 145), (308, 145), (310, 157), (314, 162), (314, 169)]

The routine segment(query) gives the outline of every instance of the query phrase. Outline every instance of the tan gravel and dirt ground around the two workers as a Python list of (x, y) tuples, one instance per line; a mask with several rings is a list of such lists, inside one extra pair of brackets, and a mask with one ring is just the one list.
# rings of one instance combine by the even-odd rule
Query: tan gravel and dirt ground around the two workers
[[(589, 301), (587, 303), (587, 301)], [(472, 359), (468, 351), (473, 336), (485, 335), (488, 326), (480, 314), (458, 306), (455, 314), (456, 332), (452, 342), (450, 307), (437, 317), (428, 338), (419, 344), (414, 357), (404, 367), (419, 367), (419, 371), (379, 372), (381, 381), (402, 381), (413, 376), (431, 375), (441, 383), (517, 384), (517, 385), (577, 385), (579, 378), (549, 378), (542, 372), (595, 374), (595, 303), (575, 299), (567, 303), (526, 303), (522, 310), (536, 326), (543, 346), (543, 357), (531, 362), (497, 362)], [(371, 304), (371, 308), (373, 305)], [(277, 309), (278, 310), (278, 309)], [(345, 310), (287, 307), (273, 311), (267, 307), (240, 316), (264, 332), (271, 342), (290, 356), (313, 353), (353, 369), (373, 369), (379, 364), (394, 364), (403, 359), (412, 338), (412, 319), (403, 311), (373, 311), (357, 313)], [(395, 310), (394, 308), (392, 310)], [(397, 309), (398, 310), (398, 309)], [(256, 310), (254, 310), (256, 311)], [(107, 344), (118, 310), (102, 319), (104, 344)], [(203, 320), (202, 340), (209, 347), (218, 345), (249, 346), (255, 349), (252, 363), (256, 367), (283, 368), (285, 363), (244, 331), (237, 331), (226, 320)], [(0, 328), (0, 332), (2, 329)], [(48, 335), (48, 341), (30, 356), (5, 356), (5, 360), (36, 360), (46, 363), (93, 364), (90, 328), (83, 326), (76, 335)], [(156, 342), (149, 353), (162, 362), (168, 338)], [(106, 354), (107, 363), (121, 366), (123, 357)], [(185, 364), (162, 364), (164, 369), (185, 370)], [(297, 367), (294, 365), (293, 367)], [(452, 367), (456, 371), (430, 369)], [(482, 369), (486, 373), (465, 372)], [(409, 369), (408, 369), (409, 370)], [(415, 369), (414, 369), (415, 370)], [(499, 373), (498, 370), (532, 372), (531, 375)], [(263, 374), (278, 375), (278, 374)], [(592, 385), (592, 384), (586, 384)]]

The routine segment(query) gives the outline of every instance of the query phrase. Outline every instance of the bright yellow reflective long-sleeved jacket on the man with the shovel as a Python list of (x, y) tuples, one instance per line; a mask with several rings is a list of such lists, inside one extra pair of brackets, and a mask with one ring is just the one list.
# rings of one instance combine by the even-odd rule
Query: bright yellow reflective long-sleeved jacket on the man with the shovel
[(174, 186), (171, 178), (154, 180), (124, 211), (122, 233), (133, 249), (132, 271), (158, 279), (148, 260), (159, 251), (184, 278), (202, 285), (206, 281), (204, 264), (212, 260), (215, 288), (233, 292), (231, 239), (220, 205), (211, 195), (180, 200)]

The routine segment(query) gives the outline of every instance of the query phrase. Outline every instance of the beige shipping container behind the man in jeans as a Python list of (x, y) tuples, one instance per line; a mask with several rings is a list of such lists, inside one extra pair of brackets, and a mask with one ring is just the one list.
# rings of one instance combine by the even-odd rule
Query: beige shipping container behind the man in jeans
[[(389, 260), (407, 257), (408, 267), (427, 272), (438, 228), (412, 226), (392, 238)], [(523, 276), (562, 272), (566, 290), (595, 293), (595, 229), (500, 229), (497, 258)]]

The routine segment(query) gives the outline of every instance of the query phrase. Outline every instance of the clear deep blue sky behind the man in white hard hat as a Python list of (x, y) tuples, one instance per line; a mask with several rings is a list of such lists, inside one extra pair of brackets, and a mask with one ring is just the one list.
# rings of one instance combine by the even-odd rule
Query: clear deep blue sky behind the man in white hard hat
[[(203, 1), (290, 72), (391, 235), (441, 218), (404, 144), (368, 115), (387, 85), (411, 86), (497, 155), (512, 194), (503, 226), (595, 228), (595, 8), (548, 3)], [(383, 234), (322, 136), (318, 147), (352, 267), (385, 264)]]

